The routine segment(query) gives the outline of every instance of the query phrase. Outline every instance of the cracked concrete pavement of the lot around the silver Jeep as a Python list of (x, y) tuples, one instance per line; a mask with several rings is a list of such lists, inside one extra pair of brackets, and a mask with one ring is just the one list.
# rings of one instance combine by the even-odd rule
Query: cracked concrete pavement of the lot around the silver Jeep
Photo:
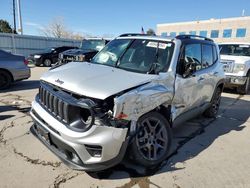
[(32, 134), (31, 101), (46, 68), (0, 93), (0, 187), (250, 187), (250, 95), (223, 93), (216, 119), (174, 129), (174, 147), (157, 169), (124, 161), (101, 173), (73, 171)]

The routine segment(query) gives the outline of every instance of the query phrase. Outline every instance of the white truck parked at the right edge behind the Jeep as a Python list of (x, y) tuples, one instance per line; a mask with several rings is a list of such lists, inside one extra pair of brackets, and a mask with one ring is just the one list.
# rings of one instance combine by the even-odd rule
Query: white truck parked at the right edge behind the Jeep
[(219, 48), (228, 81), (225, 86), (247, 94), (250, 88), (250, 43), (223, 43)]

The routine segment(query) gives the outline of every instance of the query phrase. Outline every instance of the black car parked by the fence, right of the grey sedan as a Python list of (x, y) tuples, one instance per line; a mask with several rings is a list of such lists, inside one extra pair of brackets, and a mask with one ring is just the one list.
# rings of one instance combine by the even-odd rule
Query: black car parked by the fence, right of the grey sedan
[(58, 62), (58, 54), (69, 49), (76, 49), (73, 46), (62, 46), (56, 48), (48, 48), (40, 53), (31, 54), (28, 57), (29, 61), (33, 61), (36, 66), (44, 65), (50, 67), (52, 64)]

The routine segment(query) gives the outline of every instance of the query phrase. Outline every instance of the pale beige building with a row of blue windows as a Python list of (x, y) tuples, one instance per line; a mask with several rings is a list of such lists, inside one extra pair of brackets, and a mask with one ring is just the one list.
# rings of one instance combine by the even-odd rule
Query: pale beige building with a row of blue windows
[(216, 42), (250, 42), (250, 16), (157, 24), (157, 34), (200, 35)]

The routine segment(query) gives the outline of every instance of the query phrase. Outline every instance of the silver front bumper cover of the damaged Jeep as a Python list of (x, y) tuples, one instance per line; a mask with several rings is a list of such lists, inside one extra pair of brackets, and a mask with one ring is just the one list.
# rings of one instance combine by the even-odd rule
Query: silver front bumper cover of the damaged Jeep
[[(34, 121), (31, 132), (66, 165), (76, 170), (100, 171), (112, 167), (124, 157), (127, 149), (127, 129), (93, 125), (79, 133), (68, 129), (44, 110), (32, 103), (30, 115)], [(40, 130), (49, 135), (49, 142)], [(101, 155), (91, 155), (88, 146), (101, 147)]]

